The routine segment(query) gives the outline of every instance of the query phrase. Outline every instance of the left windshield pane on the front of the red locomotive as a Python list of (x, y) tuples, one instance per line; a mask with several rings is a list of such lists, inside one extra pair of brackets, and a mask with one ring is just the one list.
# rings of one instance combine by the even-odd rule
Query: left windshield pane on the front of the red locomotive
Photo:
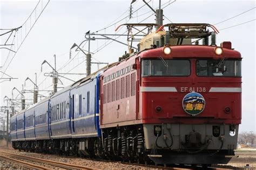
[(142, 60), (142, 76), (189, 76), (189, 60), (144, 59)]

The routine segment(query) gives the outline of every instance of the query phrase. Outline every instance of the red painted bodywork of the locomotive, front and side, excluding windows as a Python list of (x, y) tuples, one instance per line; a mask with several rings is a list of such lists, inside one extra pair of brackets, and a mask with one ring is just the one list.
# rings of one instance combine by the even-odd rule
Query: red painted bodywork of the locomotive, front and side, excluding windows
[[(111, 124), (116, 126), (123, 122), (129, 124), (149, 123), (182, 123), (182, 124), (240, 124), (241, 123), (241, 92), (209, 92), (212, 87), (241, 88), (241, 77), (198, 77), (196, 75), (196, 60), (202, 58), (240, 59), (238, 51), (223, 49), (223, 55), (215, 55), (215, 46), (180, 45), (171, 46), (171, 54), (165, 55), (163, 48), (151, 49), (138, 53), (129, 59), (123, 60), (107, 69), (102, 74), (101, 82), (101, 112), (100, 125)], [(143, 58), (163, 57), (164, 59), (189, 59), (191, 63), (190, 76), (188, 77), (141, 77), (140, 60)], [(136, 62), (137, 58), (137, 62)], [(127, 74), (136, 73), (136, 95), (124, 99), (104, 103), (104, 77), (118, 70), (136, 63), (136, 70)], [(121, 77), (125, 77), (124, 74)], [(105, 91), (107, 90), (105, 86)], [(176, 92), (142, 92), (143, 87), (174, 87)], [(127, 88), (126, 88), (127, 89)], [(205, 109), (202, 113), (192, 117), (182, 107), (184, 96), (190, 91), (199, 92), (205, 98)], [(105, 93), (107, 94), (107, 93)], [(112, 94), (112, 92), (111, 92)], [(106, 97), (106, 96), (105, 96)], [(129, 106), (127, 101), (129, 100)], [(156, 107), (163, 110), (156, 112)], [(231, 112), (225, 113), (224, 108), (230, 107)], [(127, 113), (127, 110), (129, 110)], [(137, 113), (138, 111), (138, 113)], [(126, 123), (125, 123), (126, 122)]]

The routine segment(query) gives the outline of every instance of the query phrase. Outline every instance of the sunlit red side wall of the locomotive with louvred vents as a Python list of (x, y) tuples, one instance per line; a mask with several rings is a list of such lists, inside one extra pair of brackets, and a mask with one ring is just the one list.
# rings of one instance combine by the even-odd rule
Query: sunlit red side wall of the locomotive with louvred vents
[[(100, 125), (136, 120), (136, 81), (138, 78), (137, 71), (132, 69), (133, 64), (135, 64), (135, 58), (129, 58), (102, 74)], [(121, 70), (127, 71), (127, 67), (130, 71), (122, 75)], [(118, 77), (117, 71), (120, 71)], [(111, 80), (104, 82), (104, 78), (108, 76), (111, 76)]]

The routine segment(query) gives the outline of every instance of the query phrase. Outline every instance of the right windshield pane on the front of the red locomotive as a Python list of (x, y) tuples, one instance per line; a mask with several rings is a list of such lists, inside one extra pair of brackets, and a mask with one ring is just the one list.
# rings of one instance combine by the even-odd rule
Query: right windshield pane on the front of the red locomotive
[(241, 61), (197, 60), (197, 76), (241, 77)]

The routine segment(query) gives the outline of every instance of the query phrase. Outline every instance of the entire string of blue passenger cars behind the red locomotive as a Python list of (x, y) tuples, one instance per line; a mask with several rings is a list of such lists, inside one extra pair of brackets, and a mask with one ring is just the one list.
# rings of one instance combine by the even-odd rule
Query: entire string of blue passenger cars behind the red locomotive
[(66, 155), (100, 153), (99, 76), (100, 71), (93, 73), (14, 115), (12, 146)]

